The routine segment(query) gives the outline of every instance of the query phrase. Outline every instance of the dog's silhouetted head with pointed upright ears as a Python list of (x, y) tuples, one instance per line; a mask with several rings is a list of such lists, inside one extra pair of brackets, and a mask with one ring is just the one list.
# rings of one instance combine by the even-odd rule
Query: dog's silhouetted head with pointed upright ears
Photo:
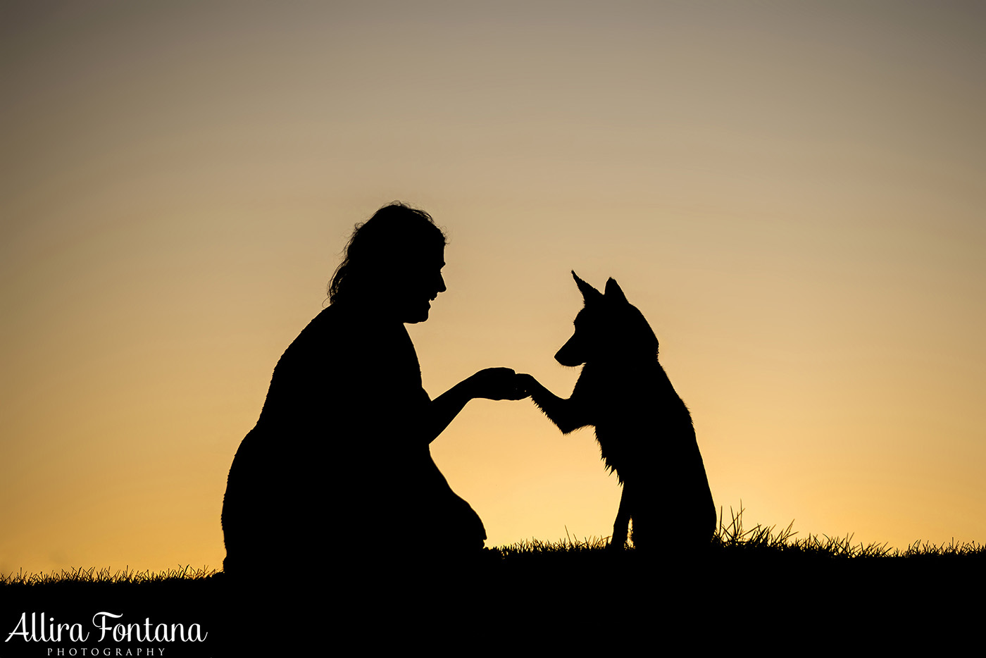
[(605, 291), (599, 292), (575, 271), (572, 276), (586, 305), (575, 317), (575, 333), (555, 354), (558, 363), (578, 366), (598, 359), (657, 355), (658, 337), (643, 314), (626, 301), (615, 279), (607, 280)]

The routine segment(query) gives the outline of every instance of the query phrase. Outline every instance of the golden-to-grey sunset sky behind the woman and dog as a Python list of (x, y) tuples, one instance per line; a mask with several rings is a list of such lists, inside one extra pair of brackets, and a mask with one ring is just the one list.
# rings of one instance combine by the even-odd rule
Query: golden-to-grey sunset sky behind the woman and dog
[[(396, 199), (449, 235), (433, 398), (567, 397), (569, 271), (612, 276), (727, 516), (986, 542), (982, 3), (4, 2), (0, 85), (0, 573), (221, 566), (271, 371)], [(611, 532), (529, 401), (432, 453), (487, 546)]]

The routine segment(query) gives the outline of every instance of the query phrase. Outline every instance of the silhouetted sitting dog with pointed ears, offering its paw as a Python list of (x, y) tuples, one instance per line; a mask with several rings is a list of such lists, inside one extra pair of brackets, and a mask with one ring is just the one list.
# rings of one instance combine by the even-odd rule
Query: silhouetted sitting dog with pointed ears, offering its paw
[(586, 306), (555, 359), (585, 366), (568, 400), (524, 376), (531, 399), (566, 434), (596, 426), (602, 459), (623, 485), (610, 548), (623, 548), (630, 519), (638, 548), (708, 545), (715, 504), (691, 415), (658, 363), (657, 336), (616, 281), (603, 294), (572, 276)]

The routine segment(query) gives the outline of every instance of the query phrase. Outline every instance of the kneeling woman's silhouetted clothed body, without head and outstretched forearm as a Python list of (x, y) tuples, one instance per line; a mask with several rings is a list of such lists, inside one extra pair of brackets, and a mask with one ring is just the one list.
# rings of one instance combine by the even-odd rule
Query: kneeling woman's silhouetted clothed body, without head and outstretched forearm
[(430, 400), (403, 325), (346, 304), (322, 311), (278, 361), (223, 505), (227, 572), (295, 561), (302, 547), (481, 548), (485, 531), (422, 432)]

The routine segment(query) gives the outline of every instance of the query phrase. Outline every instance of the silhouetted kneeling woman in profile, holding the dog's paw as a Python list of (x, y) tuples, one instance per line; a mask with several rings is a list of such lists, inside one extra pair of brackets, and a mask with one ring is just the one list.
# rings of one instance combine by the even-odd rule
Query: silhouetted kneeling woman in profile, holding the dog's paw
[[(444, 292), (445, 235), (394, 203), (358, 225), (330, 305), (274, 369), (223, 502), (228, 573), (373, 555), (461, 555), (483, 524), (428, 444), (473, 398), (520, 400), (513, 370), (482, 370), (430, 400), (404, 323)], [(330, 567), (331, 568), (331, 567)]]

